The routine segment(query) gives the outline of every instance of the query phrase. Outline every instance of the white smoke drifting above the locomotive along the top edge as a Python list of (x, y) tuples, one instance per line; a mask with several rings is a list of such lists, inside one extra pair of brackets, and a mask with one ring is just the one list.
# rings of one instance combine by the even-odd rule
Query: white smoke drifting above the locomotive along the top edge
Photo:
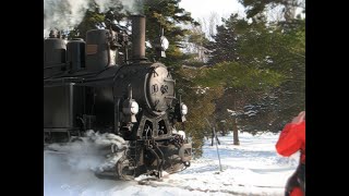
[[(101, 12), (106, 12), (118, 2), (123, 9), (137, 13), (135, 3), (139, 0), (94, 0)], [(83, 20), (85, 12), (92, 9), (89, 0), (44, 0), (44, 37), (47, 37), (51, 28), (71, 29)]]

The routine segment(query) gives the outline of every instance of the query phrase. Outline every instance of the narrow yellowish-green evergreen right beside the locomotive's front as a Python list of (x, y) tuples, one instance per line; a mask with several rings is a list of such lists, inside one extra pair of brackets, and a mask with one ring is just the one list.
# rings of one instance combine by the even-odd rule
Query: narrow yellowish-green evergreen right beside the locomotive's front
[(180, 68), (179, 74), (185, 75), (181, 78), (181, 83), (177, 84), (181, 93), (182, 100), (189, 108), (186, 115), (185, 131), (192, 137), (194, 157), (202, 155), (202, 146), (204, 137), (212, 136), (212, 130), (205, 119), (210, 122), (214, 120), (215, 101), (222, 93), (222, 86), (206, 87), (196, 82), (196, 77), (204, 74), (204, 69)]

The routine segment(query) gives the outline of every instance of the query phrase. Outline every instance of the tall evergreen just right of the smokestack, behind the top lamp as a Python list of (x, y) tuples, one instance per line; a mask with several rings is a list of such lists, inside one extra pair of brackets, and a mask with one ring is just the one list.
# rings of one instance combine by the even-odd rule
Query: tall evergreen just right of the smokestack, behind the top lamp
[[(147, 20), (146, 39), (154, 46), (164, 29), (164, 35), (170, 45), (166, 51), (166, 58), (160, 61), (170, 68), (181, 66), (183, 60), (188, 58), (183, 56), (181, 48), (184, 47), (182, 42), (189, 30), (179, 24), (198, 25), (189, 12), (179, 7), (179, 2), (180, 0), (145, 0), (143, 4)], [(153, 60), (154, 48), (147, 50), (147, 57)]]

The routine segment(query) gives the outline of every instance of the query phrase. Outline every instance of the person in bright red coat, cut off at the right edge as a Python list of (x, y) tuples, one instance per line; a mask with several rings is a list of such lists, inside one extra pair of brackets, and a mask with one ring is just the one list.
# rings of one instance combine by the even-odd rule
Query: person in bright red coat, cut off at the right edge
[(292, 122), (285, 125), (276, 143), (279, 155), (289, 157), (300, 151), (300, 162), (296, 172), (286, 184), (286, 196), (305, 195), (305, 111), (293, 118)]

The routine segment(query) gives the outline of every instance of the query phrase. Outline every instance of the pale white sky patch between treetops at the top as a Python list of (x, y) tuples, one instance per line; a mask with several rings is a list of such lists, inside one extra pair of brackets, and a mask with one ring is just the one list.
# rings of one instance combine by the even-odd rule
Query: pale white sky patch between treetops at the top
[(243, 7), (238, 0), (182, 0), (179, 5), (191, 12), (195, 20), (207, 19), (213, 12), (219, 17), (228, 17), (231, 13), (244, 15)]

